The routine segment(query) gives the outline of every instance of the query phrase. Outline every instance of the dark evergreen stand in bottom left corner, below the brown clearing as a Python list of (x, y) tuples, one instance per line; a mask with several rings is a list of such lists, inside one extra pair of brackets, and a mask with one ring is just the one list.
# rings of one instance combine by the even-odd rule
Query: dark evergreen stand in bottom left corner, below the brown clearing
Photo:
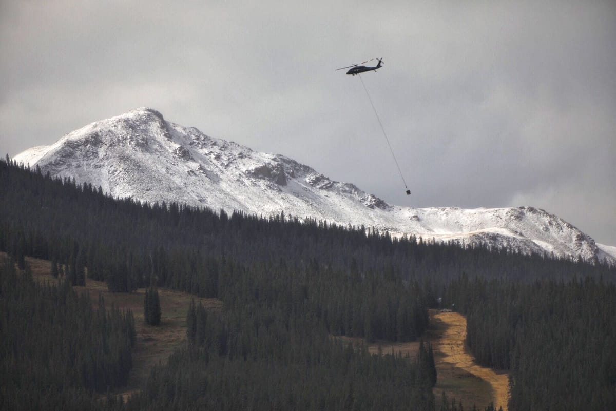
[(92, 392), (126, 384), (132, 313), (98, 305), (67, 282), (38, 285), (1, 262), (0, 409), (95, 409)]

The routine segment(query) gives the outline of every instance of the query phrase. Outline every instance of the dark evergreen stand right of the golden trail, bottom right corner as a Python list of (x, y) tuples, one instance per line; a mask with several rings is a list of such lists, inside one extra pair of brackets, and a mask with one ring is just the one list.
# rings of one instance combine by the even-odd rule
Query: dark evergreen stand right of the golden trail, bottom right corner
[(477, 361), (510, 370), (510, 411), (616, 409), (616, 285), (461, 276), (446, 301)]

